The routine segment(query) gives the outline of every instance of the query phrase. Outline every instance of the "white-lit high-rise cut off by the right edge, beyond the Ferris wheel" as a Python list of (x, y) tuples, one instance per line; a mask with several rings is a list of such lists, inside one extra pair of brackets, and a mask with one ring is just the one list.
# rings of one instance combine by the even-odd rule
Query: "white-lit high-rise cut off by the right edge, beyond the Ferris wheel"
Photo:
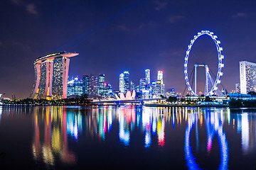
[(240, 93), (256, 91), (256, 64), (242, 61), (240, 64)]

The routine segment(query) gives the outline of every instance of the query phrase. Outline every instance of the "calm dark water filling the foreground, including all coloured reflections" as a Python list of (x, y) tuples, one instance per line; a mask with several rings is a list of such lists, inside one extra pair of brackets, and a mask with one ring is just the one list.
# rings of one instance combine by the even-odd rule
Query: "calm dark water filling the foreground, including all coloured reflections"
[(0, 106), (9, 169), (255, 169), (256, 110)]

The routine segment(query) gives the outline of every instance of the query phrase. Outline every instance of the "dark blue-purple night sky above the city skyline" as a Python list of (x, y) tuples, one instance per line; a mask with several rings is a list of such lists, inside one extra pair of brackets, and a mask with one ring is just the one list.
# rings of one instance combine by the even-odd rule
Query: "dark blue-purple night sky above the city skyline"
[[(121, 72), (129, 71), (139, 84), (144, 69), (151, 69), (151, 81), (164, 70), (166, 89), (182, 94), (183, 59), (201, 30), (218, 35), (225, 56), (221, 81), (228, 91), (239, 82), (239, 62), (256, 62), (256, 1), (3, 0), (0, 19), (4, 97), (28, 97), (34, 60), (60, 51), (80, 53), (70, 60), (69, 77), (105, 74), (118, 90)], [(198, 38), (188, 62), (213, 65), (215, 72), (213, 40)], [(198, 74), (203, 77), (203, 70)]]

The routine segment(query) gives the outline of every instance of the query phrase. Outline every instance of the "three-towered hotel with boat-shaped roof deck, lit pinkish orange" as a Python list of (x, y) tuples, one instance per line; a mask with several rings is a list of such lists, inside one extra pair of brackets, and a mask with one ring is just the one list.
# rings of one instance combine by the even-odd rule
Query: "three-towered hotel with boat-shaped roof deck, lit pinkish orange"
[(68, 67), (75, 52), (60, 52), (39, 57), (33, 63), (35, 84), (31, 98), (56, 100), (67, 98)]

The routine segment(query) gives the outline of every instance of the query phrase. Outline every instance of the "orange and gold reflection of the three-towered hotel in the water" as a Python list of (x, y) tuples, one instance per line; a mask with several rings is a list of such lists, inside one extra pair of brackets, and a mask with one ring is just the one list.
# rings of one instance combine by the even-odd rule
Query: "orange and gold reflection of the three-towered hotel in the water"
[[(73, 128), (68, 127), (70, 123)], [(42, 158), (47, 165), (54, 165), (56, 157), (63, 163), (75, 164), (75, 154), (68, 149), (68, 132), (75, 129), (75, 125), (76, 119), (68, 118), (63, 106), (36, 107), (33, 158)], [(72, 135), (75, 137), (75, 132)]]

